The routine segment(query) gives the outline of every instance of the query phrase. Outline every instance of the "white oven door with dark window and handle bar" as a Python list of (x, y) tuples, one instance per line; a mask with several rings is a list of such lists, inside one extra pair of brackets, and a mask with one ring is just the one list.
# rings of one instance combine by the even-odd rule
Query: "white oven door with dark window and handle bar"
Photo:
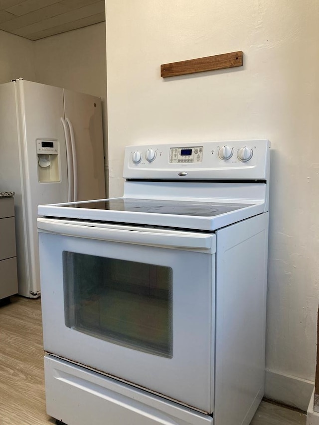
[(39, 218), (44, 349), (212, 412), (215, 235)]

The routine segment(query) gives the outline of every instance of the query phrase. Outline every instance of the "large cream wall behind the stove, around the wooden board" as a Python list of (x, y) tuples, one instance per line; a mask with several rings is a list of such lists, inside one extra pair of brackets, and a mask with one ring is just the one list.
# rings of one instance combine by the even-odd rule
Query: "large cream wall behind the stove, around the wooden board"
[[(126, 144), (272, 142), (267, 395), (282, 385), (291, 404), (315, 373), (318, 15), (317, 0), (106, 0), (110, 195)], [(237, 50), (241, 68), (160, 78), (162, 63)]]

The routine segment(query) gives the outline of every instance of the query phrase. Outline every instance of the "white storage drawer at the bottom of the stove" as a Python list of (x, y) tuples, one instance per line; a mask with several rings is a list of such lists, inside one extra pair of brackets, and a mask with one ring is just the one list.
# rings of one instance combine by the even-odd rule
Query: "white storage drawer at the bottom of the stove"
[(68, 425), (213, 425), (210, 416), (50, 355), (44, 369), (47, 413)]

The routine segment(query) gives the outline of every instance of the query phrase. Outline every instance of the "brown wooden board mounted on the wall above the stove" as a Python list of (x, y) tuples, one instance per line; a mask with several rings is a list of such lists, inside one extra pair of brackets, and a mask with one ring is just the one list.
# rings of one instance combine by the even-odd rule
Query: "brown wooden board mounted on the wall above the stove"
[(182, 60), (180, 62), (164, 63), (160, 65), (160, 76), (166, 78), (175, 77), (177, 75), (193, 74), (195, 72), (234, 68), (243, 65), (243, 57), (244, 53), (239, 51), (206, 56), (198, 59)]

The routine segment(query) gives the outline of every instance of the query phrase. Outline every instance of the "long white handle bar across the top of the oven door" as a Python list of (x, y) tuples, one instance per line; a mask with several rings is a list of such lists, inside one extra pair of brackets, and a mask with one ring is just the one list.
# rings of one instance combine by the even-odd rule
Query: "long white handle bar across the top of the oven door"
[(58, 235), (75, 236), (79, 238), (98, 239), (102, 241), (124, 242), (128, 244), (175, 247), (188, 249), (214, 250), (215, 235), (200, 235), (178, 231), (140, 231), (117, 229), (110, 227), (79, 225), (63, 223), (61, 220), (38, 218), (39, 232), (54, 233)]

